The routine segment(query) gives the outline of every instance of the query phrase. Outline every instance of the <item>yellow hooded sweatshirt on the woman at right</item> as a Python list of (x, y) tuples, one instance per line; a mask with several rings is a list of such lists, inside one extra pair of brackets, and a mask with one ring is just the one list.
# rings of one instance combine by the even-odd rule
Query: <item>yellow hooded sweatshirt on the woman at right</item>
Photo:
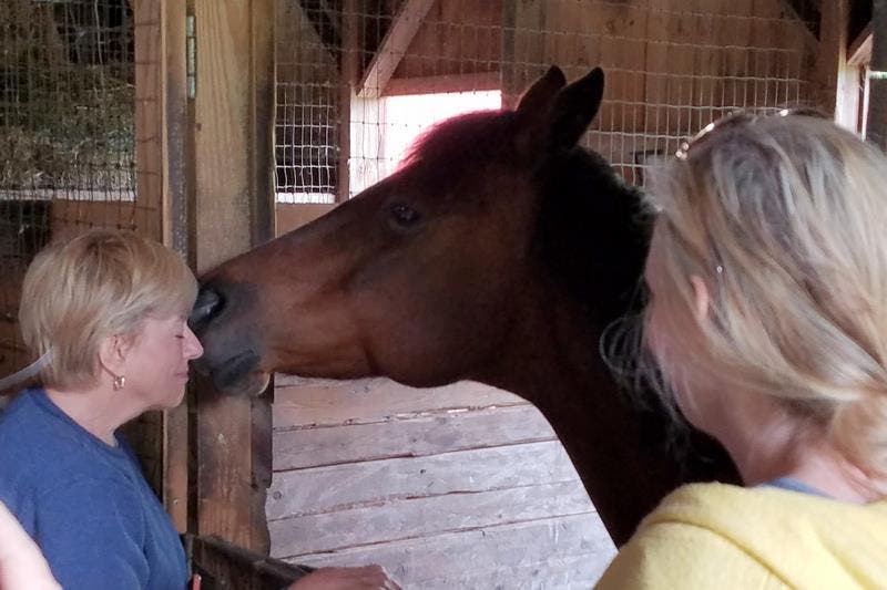
[(683, 486), (641, 522), (597, 588), (887, 589), (887, 499)]

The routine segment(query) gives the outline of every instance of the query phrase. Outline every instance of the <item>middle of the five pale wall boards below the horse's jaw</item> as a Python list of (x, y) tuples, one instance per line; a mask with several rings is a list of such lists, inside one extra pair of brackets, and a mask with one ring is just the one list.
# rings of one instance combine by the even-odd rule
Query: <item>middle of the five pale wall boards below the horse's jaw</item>
[(577, 479), (560, 443), (528, 443), (278, 472), (272, 479), (265, 509), (268, 520), (276, 520), (394, 499)]

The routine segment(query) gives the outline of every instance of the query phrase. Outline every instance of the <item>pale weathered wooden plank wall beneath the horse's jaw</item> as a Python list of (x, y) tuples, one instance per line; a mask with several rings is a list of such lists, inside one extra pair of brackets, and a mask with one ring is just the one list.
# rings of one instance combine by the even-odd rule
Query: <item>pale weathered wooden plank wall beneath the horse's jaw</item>
[(488, 386), (277, 379), (272, 557), (409, 588), (590, 587), (612, 558), (538, 410)]

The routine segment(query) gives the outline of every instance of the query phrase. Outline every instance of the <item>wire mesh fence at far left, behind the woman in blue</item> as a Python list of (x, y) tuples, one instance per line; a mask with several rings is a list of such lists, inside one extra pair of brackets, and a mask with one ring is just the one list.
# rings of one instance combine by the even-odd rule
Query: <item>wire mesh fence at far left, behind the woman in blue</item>
[(24, 363), (16, 317), (33, 255), (86, 227), (139, 230), (133, 13), (126, 0), (0, 4), (0, 372)]

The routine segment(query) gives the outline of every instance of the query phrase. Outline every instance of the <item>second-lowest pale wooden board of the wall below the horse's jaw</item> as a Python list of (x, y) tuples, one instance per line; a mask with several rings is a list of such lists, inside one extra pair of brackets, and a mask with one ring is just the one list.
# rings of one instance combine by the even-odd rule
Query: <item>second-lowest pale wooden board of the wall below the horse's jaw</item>
[(593, 513), (579, 482), (402, 498), (268, 522), (277, 556)]

